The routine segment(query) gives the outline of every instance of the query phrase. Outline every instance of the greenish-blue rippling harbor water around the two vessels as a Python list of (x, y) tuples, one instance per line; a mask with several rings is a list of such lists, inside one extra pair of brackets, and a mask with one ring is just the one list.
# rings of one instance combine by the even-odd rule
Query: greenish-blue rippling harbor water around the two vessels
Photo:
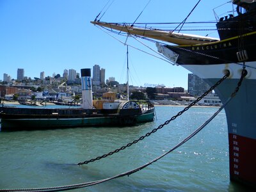
[[(134, 127), (77, 127), (0, 132), (0, 191), (46, 188), (106, 179), (141, 166), (195, 131), (218, 108), (195, 107), (120, 152), (93, 163), (157, 128), (182, 111), (156, 106), (156, 120)], [(36, 125), (35, 125), (36, 127)], [(243, 191), (229, 180), (225, 111), (194, 138), (156, 163), (129, 175), (73, 191)]]

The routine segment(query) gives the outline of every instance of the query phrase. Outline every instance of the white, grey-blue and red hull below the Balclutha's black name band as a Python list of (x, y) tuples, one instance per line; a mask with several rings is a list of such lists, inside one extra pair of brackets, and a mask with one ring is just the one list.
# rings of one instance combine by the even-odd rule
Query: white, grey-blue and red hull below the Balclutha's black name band
[[(247, 76), (235, 97), (225, 106), (228, 126), (230, 180), (255, 188), (256, 184), (256, 62), (246, 63)], [(227, 70), (230, 77), (214, 89), (225, 103), (237, 87), (242, 66), (236, 63), (212, 65), (182, 65), (209, 85), (214, 85)]]

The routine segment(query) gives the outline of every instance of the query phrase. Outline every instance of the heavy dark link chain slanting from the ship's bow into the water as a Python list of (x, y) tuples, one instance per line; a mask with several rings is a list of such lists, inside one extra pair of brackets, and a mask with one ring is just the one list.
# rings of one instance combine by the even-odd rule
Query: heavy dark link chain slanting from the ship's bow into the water
[[(244, 71), (244, 69), (243, 69)], [(246, 71), (246, 70), (245, 70)], [(246, 73), (247, 74), (247, 73)], [(212, 90), (214, 90), (214, 88), (216, 88), (216, 86), (218, 86), (219, 84), (221, 84), (225, 79), (227, 79), (227, 77), (230, 75), (230, 72), (227, 71), (227, 73), (225, 74), (225, 76), (223, 76), (216, 84), (214, 84), (211, 88), (209, 88), (209, 90), (207, 90), (203, 95), (201, 95), (200, 97), (198, 97), (195, 101), (191, 102), (191, 104), (189, 104), (189, 106), (187, 106), (186, 108), (184, 108), (182, 111), (180, 111), (179, 113), (177, 113), (177, 115), (172, 116), (172, 118), (170, 118), (170, 120), (166, 120), (166, 122), (164, 122), (164, 124), (159, 125), (157, 128), (152, 129), (151, 132), (147, 132), (147, 134), (145, 134), (144, 136), (141, 136), (138, 140), (134, 140), (131, 143), (128, 143), (125, 146), (122, 146), (120, 148), (117, 148), (116, 150), (113, 150), (112, 152), (109, 152), (108, 154), (104, 154), (102, 156), (90, 159), (88, 161), (83, 161), (80, 163), (77, 163), (77, 165), (82, 165), (82, 164), (88, 164), (88, 163), (92, 163), (93, 161), (97, 161), (100, 160), (102, 158), (111, 156), (117, 152), (119, 152), (120, 150), (124, 150), (127, 147), (131, 147), (131, 145), (133, 145), (134, 143), (138, 143), (138, 141), (144, 140), (144, 138), (150, 136), (152, 133), (156, 132), (159, 129), (162, 129), (164, 127), (164, 125), (168, 125), (171, 121), (175, 120), (178, 116), (182, 115), (185, 111), (188, 111), (189, 108), (191, 108), (192, 106), (194, 106), (197, 102), (199, 102), (201, 99), (203, 99), (206, 95), (208, 95), (208, 93), (212, 92)], [(241, 80), (242, 79), (242, 80)], [(241, 81), (243, 81), (243, 78), (241, 77), (239, 83), (241, 85)], [(239, 85), (239, 86), (240, 86)], [(236, 91), (233, 94), (236, 95), (236, 93), (239, 90), (239, 86), (237, 86), (238, 88), (236, 88)]]

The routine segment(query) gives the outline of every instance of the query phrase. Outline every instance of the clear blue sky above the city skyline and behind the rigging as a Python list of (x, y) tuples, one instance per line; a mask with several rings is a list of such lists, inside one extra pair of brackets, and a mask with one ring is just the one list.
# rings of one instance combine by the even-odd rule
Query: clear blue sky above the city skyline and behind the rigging
[[(109, 4), (107, 4), (109, 2)], [(64, 69), (105, 68), (106, 79), (127, 81), (126, 37), (105, 33), (90, 23), (102, 11), (105, 22), (182, 22), (198, 0), (0, 0), (0, 80), (3, 74), (17, 79), (17, 68), (25, 76), (63, 75)], [(148, 3), (149, 2), (149, 3)], [(187, 22), (216, 21), (213, 8), (227, 0), (202, 0)], [(105, 6), (107, 4), (107, 6)], [(110, 5), (110, 6), (109, 6)], [(225, 4), (216, 9), (219, 15), (232, 8)], [(101, 17), (102, 16), (102, 17)], [(178, 24), (177, 24), (178, 25)], [(212, 24), (214, 26), (214, 24)], [(185, 33), (185, 32), (182, 32)], [(218, 38), (216, 31), (186, 31)], [(115, 38), (113, 38), (115, 35)], [(118, 40), (116, 40), (118, 38)], [(143, 41), (143, 40), (140, 40)], [(164, 84), (188, 88), (188, 70), (159, 60), (145, 52), (157, 51), (153, 42), (148, 47), (129, 37), (129, 84), (134, 86)], [(155, 54), (153, 52), (153, 54)]]

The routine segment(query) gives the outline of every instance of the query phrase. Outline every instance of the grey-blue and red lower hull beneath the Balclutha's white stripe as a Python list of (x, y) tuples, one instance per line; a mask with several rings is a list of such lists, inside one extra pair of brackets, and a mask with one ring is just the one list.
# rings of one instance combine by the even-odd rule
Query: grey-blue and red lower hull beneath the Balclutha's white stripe
[[(205, 79), (210, 84), (218, 79)], [(226, 79), (215, 89), (225, 102), (237, 86), (238, 79)], [(246, 185), (256, 184), (256, 102), (253, 95), (256, 80), (244, 79), (239, 92), (225, 106), (228, 125), (230, 180)]]

